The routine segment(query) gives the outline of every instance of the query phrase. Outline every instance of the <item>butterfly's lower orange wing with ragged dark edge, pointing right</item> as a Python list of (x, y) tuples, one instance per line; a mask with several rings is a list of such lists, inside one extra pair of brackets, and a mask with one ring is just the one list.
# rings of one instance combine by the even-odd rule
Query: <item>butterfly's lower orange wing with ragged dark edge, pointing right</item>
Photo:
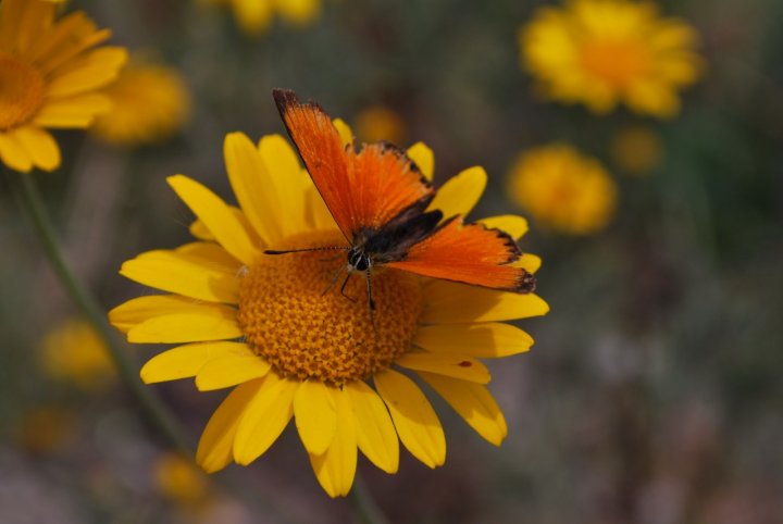
[(512, 264), (521, 253), (508, 234), (453, 217), (411, 247), (405, 260), (386, 265), (474, 286), (514, 292), (535, 290), (535, 277)]

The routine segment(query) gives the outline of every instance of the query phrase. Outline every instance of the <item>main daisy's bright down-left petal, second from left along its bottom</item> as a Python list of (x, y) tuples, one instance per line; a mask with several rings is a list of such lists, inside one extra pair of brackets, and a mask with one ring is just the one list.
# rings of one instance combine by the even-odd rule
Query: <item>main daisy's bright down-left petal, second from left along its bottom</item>
[(248, 465), (270, 446), (294, 414), (294, 394), (299, 383), (268, 373), (263, 383), (248, 404), (245, 416), (234, 439), (234, 460)]

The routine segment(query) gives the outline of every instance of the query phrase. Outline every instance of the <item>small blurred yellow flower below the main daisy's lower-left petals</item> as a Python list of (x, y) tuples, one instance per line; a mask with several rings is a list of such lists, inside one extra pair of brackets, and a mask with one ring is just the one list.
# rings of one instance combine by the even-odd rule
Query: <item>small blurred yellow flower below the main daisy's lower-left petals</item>
[(203, 472), (178, 453), (167, 452), (158, 458), (154, 483), (161, 495), (187, 510), (201, 510), (211, 501)]

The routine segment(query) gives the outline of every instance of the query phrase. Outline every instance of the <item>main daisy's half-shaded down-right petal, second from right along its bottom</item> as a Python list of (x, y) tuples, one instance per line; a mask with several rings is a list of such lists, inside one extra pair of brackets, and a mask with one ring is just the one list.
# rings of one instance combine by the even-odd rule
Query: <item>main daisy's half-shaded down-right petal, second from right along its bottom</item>
[(430, 467), (446, 461), (446, 437), (430, 401), (413, 380), (391, 370), (374, 377), (402, 445)]

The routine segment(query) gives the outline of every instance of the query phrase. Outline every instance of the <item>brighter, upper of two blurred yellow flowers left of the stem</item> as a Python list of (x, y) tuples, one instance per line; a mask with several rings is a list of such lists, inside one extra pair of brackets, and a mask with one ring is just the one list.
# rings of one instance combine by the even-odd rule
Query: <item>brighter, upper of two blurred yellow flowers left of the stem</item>
[(105, 344), (83, 320), (70, 320), (41, 341), (41, 365), (52, 378), (86, 390), (103, 389), (115, 379)]

